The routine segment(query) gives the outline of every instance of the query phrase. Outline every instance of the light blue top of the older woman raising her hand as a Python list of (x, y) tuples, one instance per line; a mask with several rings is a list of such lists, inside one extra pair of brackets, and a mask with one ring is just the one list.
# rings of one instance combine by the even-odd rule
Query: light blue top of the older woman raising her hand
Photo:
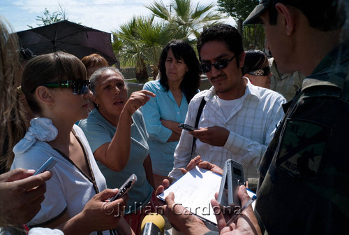
[[(131, 152), (126, 167), (122, 171), (112, 171), (107, 166), (97, 162), (108, 188), (119, 188), (124, 182), (135, 173), (136, 183), (128, 191), (128, 208), (125, 214), (138, 211), (140, 206), (146, 206), (151, 199), (153, 187), (148, 183), (147, 176), (143, 167), (144, 159), (148, 156), (149, 147), (147, 144), (147, 129), (145, 128), (142, 113), (136, 111), (132, 115), (133, 124), (131, 125)], [(110, 124), (101, 113), (94, 108), (87, 119), (81, 120), (79, 126), (89, 141), (92, 152), (96, 151), (101, 145), (110, 143), (117, 131), (117, 128)]]

